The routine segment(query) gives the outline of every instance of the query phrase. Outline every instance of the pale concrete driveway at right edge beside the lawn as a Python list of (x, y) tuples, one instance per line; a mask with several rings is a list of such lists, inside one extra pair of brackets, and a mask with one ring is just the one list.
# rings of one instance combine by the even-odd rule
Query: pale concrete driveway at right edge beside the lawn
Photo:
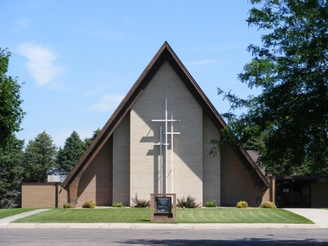
[(328, 228), (328, 210), (320, 208), (285, 208), (285, 210), (312, 220), (319, 228)]

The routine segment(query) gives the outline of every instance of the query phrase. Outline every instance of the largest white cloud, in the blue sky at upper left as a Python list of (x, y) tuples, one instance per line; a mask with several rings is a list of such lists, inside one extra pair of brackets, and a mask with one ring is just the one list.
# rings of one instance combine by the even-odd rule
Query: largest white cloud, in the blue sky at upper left
[(29, 74), (36, 80), (36, 86), (43, 86), (53, 81), (64, 71), (62, 67), (53, 64), (56, 57), (46, 46), (23, 43), (17, 51), (20, 55), (29, 59), (27, 69), (29, 69)]

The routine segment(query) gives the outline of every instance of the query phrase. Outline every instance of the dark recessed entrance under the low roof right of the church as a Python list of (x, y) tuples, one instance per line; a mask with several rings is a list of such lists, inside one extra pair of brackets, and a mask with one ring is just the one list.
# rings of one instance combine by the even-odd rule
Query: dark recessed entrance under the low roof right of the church
[(311, 207), (310, 180), (276, 180), (277, 207)]

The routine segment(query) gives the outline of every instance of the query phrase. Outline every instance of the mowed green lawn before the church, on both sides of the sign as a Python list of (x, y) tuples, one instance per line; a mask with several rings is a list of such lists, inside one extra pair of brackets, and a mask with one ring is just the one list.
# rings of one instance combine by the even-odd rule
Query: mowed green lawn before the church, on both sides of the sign
[[(64, 210), (53, 209), (18, 222), (34, 223), (143, 223), (150, 221), (150, 210), (145, 208), (126, 209), (88, 209)], [(276, 209), (178, 209), (175, 223), (288, 223), (313, 224), (312, 221), (287, 210)]]

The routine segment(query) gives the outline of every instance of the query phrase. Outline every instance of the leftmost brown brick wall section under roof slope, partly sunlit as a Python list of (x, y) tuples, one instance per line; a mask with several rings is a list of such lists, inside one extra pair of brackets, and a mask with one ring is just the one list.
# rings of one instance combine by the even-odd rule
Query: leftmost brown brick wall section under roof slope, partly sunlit
[(113, 202), (113, 137), (109, 137), (97, 156), (90, 163), (78, 184), (78, 203), (82, 207), (87, 200), (98, 206)]

